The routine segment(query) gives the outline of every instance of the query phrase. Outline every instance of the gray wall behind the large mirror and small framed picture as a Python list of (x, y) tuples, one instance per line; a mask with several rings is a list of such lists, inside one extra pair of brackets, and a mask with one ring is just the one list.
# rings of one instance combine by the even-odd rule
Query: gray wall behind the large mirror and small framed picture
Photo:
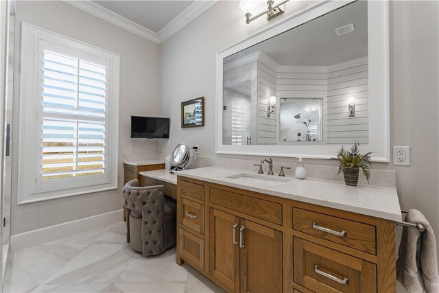
[[(300, 5), (300, 1), (293, 2)], [(215, 154), (215, 54), (256, 32), (266, 20), (246, 25), (239, 1), (219, 1), (161, 44), (161, 109), (171, 117), (169, 153), (177, 143), (200, 144), (200, 156)], [(289, 13), (290, 10), (285, 12)], [(412, 166), (374, 163), (396, 170), (401, 207), (419, 209), (439, 236), (438, 2), (390, 1), (390, 132), (392, 145), (412, 147)], [(169, 86), (169, 85), (172, 86)], [(204, 96), (204, 128), (180, 128), (180, 102)], [(296, 162), (275, 158), (274, 161)], [(305, 160), (313, 165), (335, 162)]]

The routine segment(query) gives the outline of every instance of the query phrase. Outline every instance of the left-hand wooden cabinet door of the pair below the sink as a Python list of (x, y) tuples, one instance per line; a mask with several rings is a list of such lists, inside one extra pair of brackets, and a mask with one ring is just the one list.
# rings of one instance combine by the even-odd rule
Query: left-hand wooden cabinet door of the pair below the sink
[(239, 292), (239, 218), (212, 208), (209, 217), (209, 274)]

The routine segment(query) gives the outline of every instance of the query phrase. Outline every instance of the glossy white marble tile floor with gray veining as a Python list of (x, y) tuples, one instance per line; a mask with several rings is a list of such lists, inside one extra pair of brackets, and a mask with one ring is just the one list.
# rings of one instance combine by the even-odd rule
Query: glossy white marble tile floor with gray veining
[(176, 249), (134, 253), (126, 223), (12, 253), (3, 292), (223, 292), (188, 266)]

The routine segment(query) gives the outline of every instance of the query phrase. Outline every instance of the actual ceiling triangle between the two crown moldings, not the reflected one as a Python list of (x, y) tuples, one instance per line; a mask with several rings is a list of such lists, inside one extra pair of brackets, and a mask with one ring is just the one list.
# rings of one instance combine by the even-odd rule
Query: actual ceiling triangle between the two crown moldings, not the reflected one
[(194, 1), (94, 1), (112, 12), (159, 32)]

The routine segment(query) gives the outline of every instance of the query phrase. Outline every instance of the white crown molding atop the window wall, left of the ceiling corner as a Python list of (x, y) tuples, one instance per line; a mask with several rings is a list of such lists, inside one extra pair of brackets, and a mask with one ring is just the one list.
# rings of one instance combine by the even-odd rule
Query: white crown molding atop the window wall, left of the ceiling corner
[(92, 14), (99, 19), (103, 19), (104, 21), (108, 21), (113, 25), (117, 25), (118, 27), (123, 28), (124, 30), (128, 30), (128, 32), (132, 32), (133, 34), (137, 34), (142, 38), (146, 38), (154, 43), (159, 43), (158, 36), (156, 32), (139, 25), (139, 23), (135, 23), (130, 19), (127, 19), (116, 12), (112, 12), (111, 10), (104, 8), (102, 5), (99, 5), (93, 1), (69, 1), (62, 0), (67, 4), (74, 6), (75, 8), (79, 8), (80, 10), (84, 10), (85, 12)]

